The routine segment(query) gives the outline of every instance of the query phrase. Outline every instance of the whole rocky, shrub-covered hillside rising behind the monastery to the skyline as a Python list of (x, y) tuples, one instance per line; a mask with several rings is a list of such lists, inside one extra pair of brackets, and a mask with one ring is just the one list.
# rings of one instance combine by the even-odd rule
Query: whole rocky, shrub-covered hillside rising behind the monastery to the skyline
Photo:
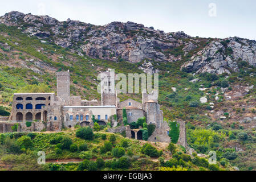
[[(100, 99), (100, 71), (157, 72), (164, 117), (186, 122), (189, 146), (201, 154), (217, 151), (222, 164), (255, 170), (255, 49), (255, 40), (13, 11), (0, 17), (0, 115), (10, 112), (14, 92), (54, 92), (56, 71), (70, 70), (71, 94), (86, 100)], [(141, 101), (140, 94), (119, 98)]]

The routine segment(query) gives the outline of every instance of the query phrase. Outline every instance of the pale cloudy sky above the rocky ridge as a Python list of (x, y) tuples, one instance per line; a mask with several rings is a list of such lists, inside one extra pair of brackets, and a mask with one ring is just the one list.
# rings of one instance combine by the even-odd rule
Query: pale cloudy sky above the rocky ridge
[(202, 38), (239, 36), (256, 40), (255, 0), (8, 0), (1, 3), (0, 15), (10, 11), (96, 25), (132, 21), (156, 30), (184, 31)]

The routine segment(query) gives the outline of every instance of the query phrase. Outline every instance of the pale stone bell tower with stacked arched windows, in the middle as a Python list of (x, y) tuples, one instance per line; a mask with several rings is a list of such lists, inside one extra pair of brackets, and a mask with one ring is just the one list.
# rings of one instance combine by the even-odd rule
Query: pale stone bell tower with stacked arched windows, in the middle
[(101, 106), (117, 105), (117, 93), (115, 90), (115, 70), (108, 69), (101, 72)]

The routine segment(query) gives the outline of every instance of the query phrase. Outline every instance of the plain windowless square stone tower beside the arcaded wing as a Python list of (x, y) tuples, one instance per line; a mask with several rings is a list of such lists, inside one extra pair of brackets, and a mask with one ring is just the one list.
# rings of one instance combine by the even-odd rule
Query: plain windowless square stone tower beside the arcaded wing
[(57, 96), (70, 97), (70, 71), (57, 72)]

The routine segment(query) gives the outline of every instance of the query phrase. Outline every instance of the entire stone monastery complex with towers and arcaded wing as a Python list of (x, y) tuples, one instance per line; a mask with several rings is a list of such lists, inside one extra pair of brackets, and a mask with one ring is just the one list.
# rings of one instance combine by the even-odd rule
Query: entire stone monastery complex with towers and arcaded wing
[[(132, 99), (119, 102), (115, 90), (115, 73), (108, 70), (100, 75), (101, 101), (82, 101), (80, 96), (70, 95), (69, 71), (57, 72), (56, 80), (56, 95), (55, 93), (14, 93), (13, 109), (9, 117), (11, 123), (0, 123), (0, 132), (11, 132), (11, 126), (15, 123), (18, 123), (18, 131), (21, 132), (60, 131), (63, 127), (70, 128), (75, 125), (93, 126), (93, 115), (99, 125), (107, 125), (107, 122), (110, 122), (113, 126), (111, 132), (120, 131), (115, 127), (117, 122), (123, 122), (125, 108), (128, 123), (146, 117), (148, 125), (156, 126), (149, 141), (170, 142), (168, 136), (170, 129), (168, 123), (164, 122), (163, 113), (158, 104), (158, 90), (153, 90), (152, 93), (143, 90), (141, 103)], [(26, 122), (32, 122), (31, 126), (27, 127)], [(180, 126), (179, 143), (186, 146), (185, 123), (181, 123)], [(121, 130), (126, 131), (128, 138), (142, 139), (140, 129), (131, 130), (123, 126)]]

